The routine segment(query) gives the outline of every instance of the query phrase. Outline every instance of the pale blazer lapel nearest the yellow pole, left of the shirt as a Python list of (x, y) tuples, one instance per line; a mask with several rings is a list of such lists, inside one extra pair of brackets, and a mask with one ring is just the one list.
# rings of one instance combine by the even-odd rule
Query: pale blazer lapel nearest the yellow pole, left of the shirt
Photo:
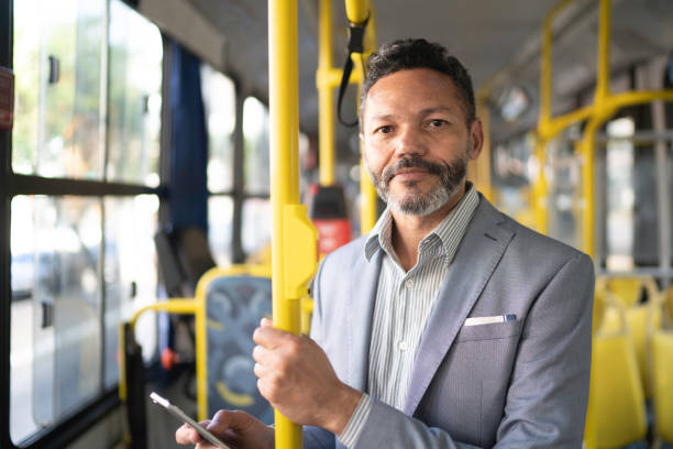
[[(360, 391), (367, 390), (369, 372), (369, 340), (372, 337), (372, 317), (376, 302), (376, 288), (380, 272), (383, 251), (376, 251), (367, 261), (363, 254), (352, 267), (351, 295), (346, 299), (349, 382)], [(344, 267), (345, 269), (345, 267)]]

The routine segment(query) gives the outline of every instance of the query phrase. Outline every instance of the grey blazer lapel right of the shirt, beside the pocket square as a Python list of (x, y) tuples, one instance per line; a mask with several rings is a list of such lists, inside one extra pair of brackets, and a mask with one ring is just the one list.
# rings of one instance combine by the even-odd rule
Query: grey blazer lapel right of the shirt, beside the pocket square
[(503, 216), (482, 197), (421, 337), (405, 403), (408, 416), (416, 412), (514, 236), (512, 231), (497, 226), (503, 220)]

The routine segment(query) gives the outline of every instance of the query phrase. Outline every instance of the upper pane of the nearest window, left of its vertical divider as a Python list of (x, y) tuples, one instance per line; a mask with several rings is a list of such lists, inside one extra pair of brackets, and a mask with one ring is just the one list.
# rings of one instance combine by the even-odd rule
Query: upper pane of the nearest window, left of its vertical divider
[[(14, 54), (21, 55), (14, 64), (21, 85), (16, 86), (18, 128), (12, 133), (13, 169), (47, 177), (101, 178), (99, 122), (106, 3), (20, 3), (14, 11)], [(22, 79), (24, 73), (26, 78)]]

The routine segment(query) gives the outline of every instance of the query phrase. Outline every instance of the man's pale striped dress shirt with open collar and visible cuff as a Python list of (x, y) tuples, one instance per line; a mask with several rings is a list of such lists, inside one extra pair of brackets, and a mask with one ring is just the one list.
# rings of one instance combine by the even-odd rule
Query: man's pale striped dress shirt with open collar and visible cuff
[(378, 250), (384, 256), (378, 276), (369, 340), (368, 384), (339, 440), (357, 441), (372, 407), (372, 397), (402, 409), (416, 351), (432, 311), (442, 281), (479, 197), (472, 184), (442, 222), (418, 245), (418, 261), (405, 272), (393, 250), (393, 216), (386, 209), (369, 232), (364, 251), (367, 261)]

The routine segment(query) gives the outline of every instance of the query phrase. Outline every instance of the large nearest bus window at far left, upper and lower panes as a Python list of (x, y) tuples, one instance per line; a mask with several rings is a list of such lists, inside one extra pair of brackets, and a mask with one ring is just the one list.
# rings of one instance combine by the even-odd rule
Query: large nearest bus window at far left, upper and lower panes
[[(163, 43), (121, 0), (18, 2), (14, 33), (12, 168), (33, 175), (11, 202), (10, 436), (21, 445), (114, 387), (119, 322), (156, 300), (158, 190), (147, 187), (159, 184)], [(143, 319), (148, 360), (156, 327)]]

